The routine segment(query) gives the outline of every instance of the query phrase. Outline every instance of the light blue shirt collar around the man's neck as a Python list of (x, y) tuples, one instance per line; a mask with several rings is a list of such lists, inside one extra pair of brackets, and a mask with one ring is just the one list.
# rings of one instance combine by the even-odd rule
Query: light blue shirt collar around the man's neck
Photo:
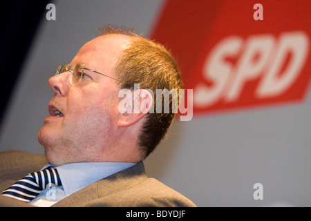
[[(56, 166), (66, 196), (83, 189), (84, 187), (104, 179), (113, 173), (123, 171), (135, 163), (124, 162), (79, 162)], [(43, 169), (51, 164), (46, 164)], [(55, 167), (55, 166), (53, 166)]]

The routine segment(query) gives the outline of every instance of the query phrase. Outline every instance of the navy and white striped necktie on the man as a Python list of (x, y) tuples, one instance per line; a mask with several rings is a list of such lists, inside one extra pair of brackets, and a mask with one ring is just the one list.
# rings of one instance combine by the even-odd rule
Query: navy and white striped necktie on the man
[(30, 202), (35, 199), (42, 190), (48, 189), (51, 186), (62, 186), (57, 169), (55, 168), (28, 173), (26, 177), (23, 177), (23, 179), (10, 186), (1, 194), (23, 202)]

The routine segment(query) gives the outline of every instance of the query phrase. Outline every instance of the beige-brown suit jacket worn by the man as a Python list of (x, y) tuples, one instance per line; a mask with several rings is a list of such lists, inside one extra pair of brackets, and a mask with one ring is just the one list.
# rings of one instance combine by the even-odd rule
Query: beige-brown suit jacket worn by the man
[[(39, 171), (43, 155), (23, 151), (0, 152), (0, 191), (33, 171)], [(31, 206), (0, 196), (0, 206)], [(156, 179), (147, 177), (142, 162), (81, 189), (53, 206), (196, 206)]]

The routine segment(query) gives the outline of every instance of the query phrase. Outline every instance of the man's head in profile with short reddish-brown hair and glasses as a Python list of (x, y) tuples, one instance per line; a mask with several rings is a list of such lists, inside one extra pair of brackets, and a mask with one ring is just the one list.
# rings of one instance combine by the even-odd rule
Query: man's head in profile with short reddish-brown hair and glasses
[[(143, 89), (155, 96), (156, 89), (178, 90), (180, 73), (169, 52), (130, 30), (107, 26), (79, 50), (73, 66), (78, 67), (75, 75), (65, 71), (49, 79), (55, 96), (38, 133), (48, 161), (138, 162), (147, 157), (167, 133), (174, 113), (120, 113), (118, 93), (139, 84), (145, 95), (139, 102), (151, 108), (156, 99)], [(77, 76), (81, 81), (74, 84)]]

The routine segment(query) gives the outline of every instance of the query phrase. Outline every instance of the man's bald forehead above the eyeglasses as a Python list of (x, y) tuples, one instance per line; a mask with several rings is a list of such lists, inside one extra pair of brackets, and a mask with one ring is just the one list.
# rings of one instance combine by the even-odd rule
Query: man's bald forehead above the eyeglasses
[(84, 62), (91, 68), (110, 73), (117, 58), (129, 45), (130, 39), (126, 35), (116, 34), (97, 37), (82, 46), (72, 64)]

